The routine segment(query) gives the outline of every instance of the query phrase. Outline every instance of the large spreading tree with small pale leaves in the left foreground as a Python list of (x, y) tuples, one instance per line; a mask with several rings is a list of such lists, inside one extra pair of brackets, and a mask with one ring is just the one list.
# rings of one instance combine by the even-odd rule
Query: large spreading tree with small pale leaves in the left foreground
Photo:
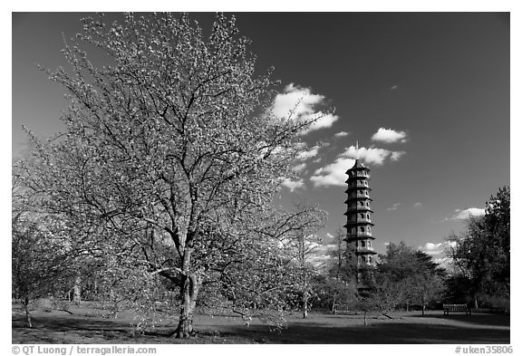
[[(206, 279), (276, 245), (266, 224), (273, 197), (295, 177), (300, 132), (318, 119), (271, 113), (275, 82), (257, 74), (237, 32), (222, 14), (208, 39), (186, 14), (83, 20), (63, 51), (72, 72), (50, 72), (69, 91), (66, 130), (46, 143), (33, 137), (38, 164), (23, 167), (45, 209), (99, 226), (111, 248), (141, 251), (137, 268), (178, 285), (177, 337), (193, 334)], [(80, 43), (108, 65), (94, 66)]]

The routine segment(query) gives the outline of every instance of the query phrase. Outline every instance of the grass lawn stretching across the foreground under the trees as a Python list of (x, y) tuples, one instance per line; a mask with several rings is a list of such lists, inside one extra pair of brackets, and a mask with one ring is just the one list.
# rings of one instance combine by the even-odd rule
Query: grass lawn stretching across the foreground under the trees
[(509, 316), (476, 313), (391, 313), (392, 319), (372, 314), (364, 326), (362, 315), (299, 313), (288, 317), (287, 328), (270, 332), (262, 322), (247, 326), (236, 316), (197, 315), (198, 336), (179, 340), (166, 336), (177, 325), (170, 318), (154, 332), (132, 334), (131, 315), (103, 319), (89, 308), (72, 308), (73, 314), (44, 310), (32, 312), (34, 327), (25, 327), (24, 313), (13, 308), (13, 343), (509, 343)]

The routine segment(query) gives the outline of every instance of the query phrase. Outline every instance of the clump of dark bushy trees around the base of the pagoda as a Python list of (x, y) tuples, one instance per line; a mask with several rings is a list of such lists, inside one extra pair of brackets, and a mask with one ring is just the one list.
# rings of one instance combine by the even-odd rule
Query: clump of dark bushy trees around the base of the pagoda
[[(337, 239), (341, 240), (339, 231)], [(430, 303), (440, 301), (445, 290), (446, 270), (430, 255), (404, 242), (389, 244), (386, 254), (372, 267), (357, 264), (353, 245), (338, 244), (326, 279), (333, 295), (331, 303), (348, 304), (353, 311), (388, 314), (397, 307), (419, 306), (424, 314)], [(341, 252), (340, 252), (341, 251)]]

